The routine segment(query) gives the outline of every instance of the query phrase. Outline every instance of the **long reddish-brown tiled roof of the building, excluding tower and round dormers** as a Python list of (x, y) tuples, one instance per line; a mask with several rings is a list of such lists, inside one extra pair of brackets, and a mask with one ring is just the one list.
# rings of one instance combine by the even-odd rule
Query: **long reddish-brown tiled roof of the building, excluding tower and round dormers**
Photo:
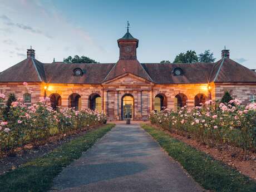
[[(183, 76), (174, 76), (174, 68), (183, 70)], [(81, 68), (82, 76), (73, 70)], [(0, 73), (0, 82), (47, 82), (100, 84), (124, 73), (145, 78), (154, 83), (207, 83), (254, 82), (256, 73), (239, 63), (223, 58), (215, 63), (139, 63), (136, 59), (119, 60), (117, 63), (41, 63), (27, 58)]]

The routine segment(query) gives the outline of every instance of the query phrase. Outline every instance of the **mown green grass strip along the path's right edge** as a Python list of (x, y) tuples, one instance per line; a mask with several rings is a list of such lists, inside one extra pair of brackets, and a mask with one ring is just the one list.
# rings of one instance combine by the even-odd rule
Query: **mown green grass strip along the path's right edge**
[(149, 134), (207, 190), (218, 192), (255, 192), (256, 182), (237, 170), (214, 160), (204, 152), (174, 139), (164, 131), (142, 125)]

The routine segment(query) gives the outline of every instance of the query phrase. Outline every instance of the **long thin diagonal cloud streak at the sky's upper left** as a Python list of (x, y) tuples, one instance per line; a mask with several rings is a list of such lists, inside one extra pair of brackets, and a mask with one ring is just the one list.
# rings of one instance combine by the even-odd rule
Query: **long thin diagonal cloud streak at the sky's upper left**
[(35, 33), (35, 34), (39, 34), (39, 35), (43, 35), (47, 38), (53, 38), (52, 36), (48, 35), (47, 33), (42, 32), (41, 30), (35, 29), (31, 26), (28, 26), (26, 24), (22, 24), (22, 23), (13, 23), (12, 20), (7, 17), (5, 14), (2, 14), (0, 16), (0, 19), (2, 19), (4, 21), (4, 24), (6, 24), (7, 26), (16, 26), (20, 29), (23, 29), (25, 31), (31, 32), (31, 33)]

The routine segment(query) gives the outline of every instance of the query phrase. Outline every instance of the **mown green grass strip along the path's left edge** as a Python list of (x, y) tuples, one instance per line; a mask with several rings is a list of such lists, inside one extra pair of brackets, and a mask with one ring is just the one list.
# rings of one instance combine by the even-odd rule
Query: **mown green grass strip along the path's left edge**
[(29, 161), (16, 170), (0, 176), (1, 192), (37, 192), (51, 189), (53, 179), (82, 152), (88, 150), (104, 136), (115, 124), (107, 124), (88, 131), (85, 135), (73, 139), (43, 157)]

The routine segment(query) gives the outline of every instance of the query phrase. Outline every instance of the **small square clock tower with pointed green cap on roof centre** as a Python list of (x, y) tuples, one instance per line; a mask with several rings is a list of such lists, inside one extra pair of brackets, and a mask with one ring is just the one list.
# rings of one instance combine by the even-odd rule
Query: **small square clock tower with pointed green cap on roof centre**
[(117, 40), (119, 46), (119, 59), (136, 59), (136, 49), (139, 44), (139, 40), (132, 37), (131, 33), (129, 33), (129, 26), (127, 26), (127, 32), (124, 37)]

